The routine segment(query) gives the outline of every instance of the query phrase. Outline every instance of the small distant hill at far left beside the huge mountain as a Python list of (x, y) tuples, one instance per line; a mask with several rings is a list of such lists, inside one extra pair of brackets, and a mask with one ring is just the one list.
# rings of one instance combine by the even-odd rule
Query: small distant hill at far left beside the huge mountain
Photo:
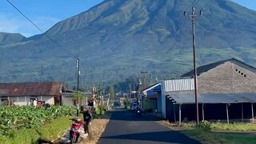
[(18, 33), (10, 34), (10, 33), (0, 32), (0, 45), (21, 42), (25, 39), (26, 37), (24, 37), (22, 34), (18, 34)]

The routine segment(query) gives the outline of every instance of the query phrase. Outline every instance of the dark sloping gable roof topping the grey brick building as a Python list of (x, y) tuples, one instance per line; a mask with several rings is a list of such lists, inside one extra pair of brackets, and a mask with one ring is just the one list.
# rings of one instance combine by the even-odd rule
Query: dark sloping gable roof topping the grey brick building
[[(213, 68), (215, 68), (219, 65), (222, 65), (225, 62), (239, 63), (239, 64), (242, 64), (243, 66), (247, 66), (251, 70), (256, 70), (256, 68), (254, 66), (247, 65), (246, 63), (238, 61), (235, 58), (231, 58), (231, 59), (226, 59), (226, 60), (223, 60), (223, 61), (220, 61), (220, 62), (210, 63), (210, 64), (205, 65), (205, 66), (200, 66), (200, 67), (197, 68), (197, 73), (198, 73), (198, 75), (200, 75), (200, 74), (202, 74), (202, 73), (204, 73), (208, 70), (211, 70), (211, 69), (213, 69)], [(186, 74), (182, 74), (182, 76), (180, 76), (180, 77), (194, 77), (194, 70), (191, 70)]]

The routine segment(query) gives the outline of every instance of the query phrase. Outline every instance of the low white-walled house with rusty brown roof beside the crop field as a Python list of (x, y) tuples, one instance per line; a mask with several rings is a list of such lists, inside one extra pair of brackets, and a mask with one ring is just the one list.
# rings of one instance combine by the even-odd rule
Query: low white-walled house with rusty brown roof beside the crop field
[(0, 106), (30, 106), (35, 98), (38, 102), (61, 105), (62, 82), (0, 83)]

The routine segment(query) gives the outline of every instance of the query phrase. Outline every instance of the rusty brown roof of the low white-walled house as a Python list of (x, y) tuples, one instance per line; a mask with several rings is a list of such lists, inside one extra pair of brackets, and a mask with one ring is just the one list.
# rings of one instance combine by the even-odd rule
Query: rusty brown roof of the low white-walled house
[(0, 83), (0, 96), (58, 96), (62, 82)]

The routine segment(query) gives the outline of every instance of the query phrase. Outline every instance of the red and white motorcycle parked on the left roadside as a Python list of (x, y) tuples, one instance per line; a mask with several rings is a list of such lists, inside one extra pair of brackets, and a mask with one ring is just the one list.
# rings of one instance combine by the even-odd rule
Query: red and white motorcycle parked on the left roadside
[(83, 124), (84, 122), (80, 118), (71, 118), (72, 125), (70, 127), (70, 143), (78, 142), (81, 133), (83, 132)]

